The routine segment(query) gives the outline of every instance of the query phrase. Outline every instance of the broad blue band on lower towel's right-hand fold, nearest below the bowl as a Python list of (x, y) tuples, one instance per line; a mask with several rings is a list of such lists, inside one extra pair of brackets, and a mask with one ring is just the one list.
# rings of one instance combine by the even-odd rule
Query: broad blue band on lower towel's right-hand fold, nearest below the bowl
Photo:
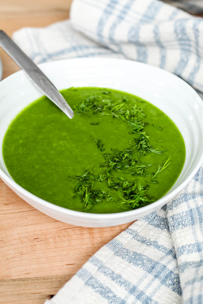
[(169, 217), (170, 231), (174, 232), (177, 229), (183, 229), (185, 227), (192, 227), (198, 223), (202, 223), (203, 206), (197, 206), (196, 208), (183, 211)]

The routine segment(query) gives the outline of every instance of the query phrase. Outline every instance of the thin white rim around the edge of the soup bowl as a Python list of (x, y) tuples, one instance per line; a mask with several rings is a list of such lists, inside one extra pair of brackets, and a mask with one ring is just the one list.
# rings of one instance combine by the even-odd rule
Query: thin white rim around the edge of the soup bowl
[[(166, 71), (163, 70), (159, 67), (154, 67), (152, 65), (149, 64), (145, 64), (142, 62), (138, 62), (135, 60), (128, 60), (128, 59), (121, 59), (121, 58), (104, 58), (104, 57), (82, 57), (82, 58), (66, 58), (66, 59), (61, 59), (61, 60), (55, 60), (55, 61), (51, 61), (51, 62), (45, 62), (45, 63), (41, 63), (38, 64), (37, 66), (43, 67), (44, 65), (51, 65), (51, 64), (57, 64), (58, 62), (62, 62), (62, 61), (92, 61), (92, 60), (103, 60), (103, 61), (109, 61), (109, 60), (113, 60), (113, 61), (128, 61), (131, 62), (131, 64), (138, 64), (138, 65), (144, 65), (144, 66), (148, 66), (149, 68), (158, 70), (159, 72), (162, 73), (166, 73), (166, 74), (170, 74), (170, 76), (172, 76), (173, 78), (175, 78), (177, 81), (181, 81), (184, 82), (185, 85), (187, 85), (188, 87), (190, 87), (193, 92), (194, 95), (196, 95), (198, 101), (200, 101), (200, 105), (203, 109), (203, 102), (202, 99), (200, 98), (200, 96), (197, 94), (197, 92), (194, 90), (194, 88), (191, 87), (191, 85), (189, 85), (186, 81), (184, 81), (183, 79), (181, 79), (180, 77)], [(5, 79), (3, 79), (1, 81), (1, 83), (3, 84), (6, 81), (9, 81), (10, 78), (15, 77), (16, 75), (18, 75), (19, 73), (23, 73), (22, 70), (17, 71), (11, 75), (9, 75), (8, 77), (6, 77)], [(43, 96), (43, 95), (42, 95)], [(2, 152), (1, 152), (2, 153)], [(197, 162), (197, 164), (195, 165), (195, 167), (193, 168), (193, 170), (191, 171), (191, 173), (188, 175), (187, 178), (184, 179), (184, 181), (177, 187), (175, 188), (172, 192), (170, 193), (166, 193), (163, 197), (161, 197), (160, 199), (158, 199), (157, 201), (144, 206), (144, 207), (140, 207), (138, 209), (133, 209), (133, 210), (129, 210), (129, 211), (123, 211), (123, 212), (116, 212), (116, 213), (88, 213), (88, 212), (82, 212), (82, 211), (76, 211), (76, 210), (72, 210), (72, 209), (68, 209), (65, 207), (61, 207), (58, 205), (55, 205), (54, 203), (48, 202), (44, 199), (41, 199), (40, 197), (32, 194), (31, 192), (27, 191), (26, 189), (24, 189), (23, 187), (21, 187), (20, 185), (18, 185), (12, 178), (10, 178), (1, 168), (0, 168), (0, 178), (2, 178), (6, 183), (8, 183), (12, 188), (14, 188), (17, 192), (20, 192), (21, 194), (25, 195), (28, 199), (31, 199), (33, 201), (35, 201), (37, 204), (50, 209), (53, 212), (60, 212), (63, 213), (63, 215), (69, 215), (69, 216), (73, 216), (73, 217), (77, 217), (77, 218), (82, 218), (82, 219), (94, 219), (94, 220), (103, 220), (104, 218), (109, 220), (109, 219), (119, 219), (119, 218), (126, 218), (126, 217), (130, 217), (133, 216), (133, 214), (135, 213), (137, 218), (139, 217), (139, 214), (149, 214), (152, 211), (158, 210), (159, 208), (161, 208), (163, 206), (163, 202), (169, 202), (171, 199), (173, 199), (176, 195), (178, 195), (178, 193), (188, 184), (188, 182), (194, 177), (194, 175), (197, 173), (198, 169), (201, 167), (201, 164), (203, 163), (203, 149), (201, 151), (201, 156), (199, 157), (199, 160)], [(181, 171), (182, 172), (182, 171)]]

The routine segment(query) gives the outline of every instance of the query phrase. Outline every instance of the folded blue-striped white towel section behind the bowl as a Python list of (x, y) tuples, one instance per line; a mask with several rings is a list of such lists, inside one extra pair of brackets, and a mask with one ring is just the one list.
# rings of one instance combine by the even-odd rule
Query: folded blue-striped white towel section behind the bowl
[(128, 58), (161, 67), (203, 91), (203, 19), (162, 1), (75, 0), (71, 21), (20, 29), (13, 39), (36, 63)]

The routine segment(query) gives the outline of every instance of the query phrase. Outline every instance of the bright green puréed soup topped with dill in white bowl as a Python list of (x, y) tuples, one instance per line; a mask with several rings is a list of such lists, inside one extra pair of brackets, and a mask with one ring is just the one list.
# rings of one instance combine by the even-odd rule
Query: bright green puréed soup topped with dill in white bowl
[(42, 97), (12, 121), (3, 158), (12, 178), (53, 204), (123, 212), (160, 199), (185, 161), (184, 140), (162, 111), (106, 88), (69, 88), (69, 119)]

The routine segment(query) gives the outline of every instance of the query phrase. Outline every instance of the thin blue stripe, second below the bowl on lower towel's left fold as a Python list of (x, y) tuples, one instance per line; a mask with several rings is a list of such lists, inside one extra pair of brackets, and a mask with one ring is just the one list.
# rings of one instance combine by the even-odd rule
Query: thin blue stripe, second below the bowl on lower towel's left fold
[(125, 232), (129, 233), (132, 235), (132, 238), (136, 241), (138, 241), (141, 244), (145, 244), (146, 246), (153, 247), (161, 252), (163, 252), (166, 256), (172, 256), (173, 259), (176, 259), (176, 253), (175, 253), (175, 248), (173, 247), (172, 249), (167, 248), (163, 245), (160, 245), (157, 241), (152, 241), (150, 239), (147, 239), (146, 237), (142, 237), (138, 234), (136, 230), (133, 230), (131, 228), (127, 228)]

